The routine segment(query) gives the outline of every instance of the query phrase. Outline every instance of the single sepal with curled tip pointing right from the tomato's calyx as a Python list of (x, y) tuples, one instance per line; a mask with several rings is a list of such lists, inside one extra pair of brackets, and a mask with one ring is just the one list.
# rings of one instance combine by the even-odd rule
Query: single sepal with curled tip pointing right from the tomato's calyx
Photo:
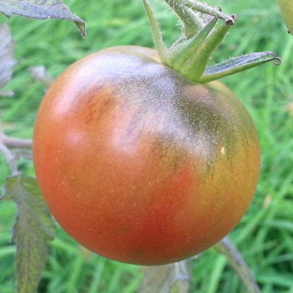
[(199, 82), (208, 83), (273, 60), (276, 61), (276, 65), (281, 63), (280, 58), (276, 57), (273, 52), (258, 52), (231, 58), (222, 63), (208, 66)]

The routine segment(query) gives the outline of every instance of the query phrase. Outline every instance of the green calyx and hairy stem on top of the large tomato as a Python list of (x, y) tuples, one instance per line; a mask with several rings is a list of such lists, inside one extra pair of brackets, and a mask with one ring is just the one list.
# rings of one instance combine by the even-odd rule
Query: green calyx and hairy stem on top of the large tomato
[[(182, 35), (168, 49), (163, 42), (159, 24), (148, 0), (143, 0), (150, 23), (155, 48), (162, 63), (197, 83), (208, 83), (254, 66), (281, 60), (273, 52), (258, 52), (231, 58), (208, 66), (213, 52), (225, 38), (236, 16), (227, 15), (196, 0), (165, 0), (182, 22)], [(200, 13), (200, 15), (199, 15)], [(202, 15), (208, 15), (203, 19)], [(217, 25), (221, 19), (224, 23)]]

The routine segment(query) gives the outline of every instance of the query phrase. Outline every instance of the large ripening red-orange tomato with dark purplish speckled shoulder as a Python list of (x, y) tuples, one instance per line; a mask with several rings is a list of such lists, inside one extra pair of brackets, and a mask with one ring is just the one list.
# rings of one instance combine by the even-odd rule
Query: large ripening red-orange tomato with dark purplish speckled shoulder
[(161, 265), (214, 245), (253, 196), (260, 148), (223, 84), (196, 84), (136, 46), (101, 50), (48, 89), (33, 138), (49, 209), (107, 258)]

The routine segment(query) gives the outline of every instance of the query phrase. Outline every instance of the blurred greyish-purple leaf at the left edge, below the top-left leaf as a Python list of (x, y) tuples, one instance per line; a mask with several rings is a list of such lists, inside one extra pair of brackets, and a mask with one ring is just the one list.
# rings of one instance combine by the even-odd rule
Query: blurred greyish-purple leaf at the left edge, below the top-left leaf
[[(0, 88), (8, 84), (12, 77), (12, 67), (16, 64), (13, 58), (15, 42), (12, 39), (8, 23), (0, 25)], [(0, 96), (11, 96), (11, 91), (0, 91)]]

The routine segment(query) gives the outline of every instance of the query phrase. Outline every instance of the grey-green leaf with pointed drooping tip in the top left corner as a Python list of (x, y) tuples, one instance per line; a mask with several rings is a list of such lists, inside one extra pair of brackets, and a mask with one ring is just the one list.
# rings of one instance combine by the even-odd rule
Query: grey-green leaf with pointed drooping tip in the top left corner
[(85, 22), (72, 14), (61, 0), (0, 0), (0, 12), (8, 18), (17, 14), (38, 20), (53, 18), (73, 21), (85, 37)]

